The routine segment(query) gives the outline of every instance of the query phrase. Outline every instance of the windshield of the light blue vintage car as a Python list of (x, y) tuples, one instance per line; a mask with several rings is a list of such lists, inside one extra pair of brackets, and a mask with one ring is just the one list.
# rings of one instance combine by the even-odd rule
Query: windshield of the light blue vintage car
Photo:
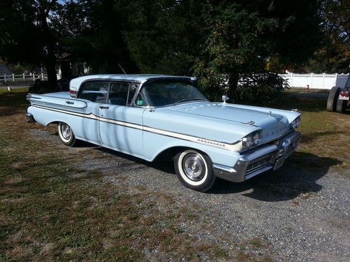
[(207, 99), (195, 87), (194, 82), (167, 79), (146, 82), (137, 97), (136, 104), (157, 107), (201, 100)]

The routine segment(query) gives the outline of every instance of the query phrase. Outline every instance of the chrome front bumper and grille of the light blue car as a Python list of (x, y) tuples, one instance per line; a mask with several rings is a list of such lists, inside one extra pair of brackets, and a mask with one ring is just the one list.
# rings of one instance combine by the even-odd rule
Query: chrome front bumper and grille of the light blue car
[(278, 145), (262, 145), (244, 152), (232, 168), (214, 163), (214, 174), (224, 180), (243, 182), (266, 170), (276, 170), (283, 166), (286, 158), (295, 151), (301, 138), (302, 133), (294, 131), (280, 138)]

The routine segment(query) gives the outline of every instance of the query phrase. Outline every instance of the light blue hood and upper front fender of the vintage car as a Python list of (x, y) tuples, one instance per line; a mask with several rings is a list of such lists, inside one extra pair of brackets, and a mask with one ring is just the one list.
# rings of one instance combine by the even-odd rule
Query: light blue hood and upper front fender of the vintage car
[(290, 131), (298, 112), (228, 103), (197, 102), (155, 108), (144, 115), (144, 124), (224, 143), (236, 143), (260, 131), (264, 143)]

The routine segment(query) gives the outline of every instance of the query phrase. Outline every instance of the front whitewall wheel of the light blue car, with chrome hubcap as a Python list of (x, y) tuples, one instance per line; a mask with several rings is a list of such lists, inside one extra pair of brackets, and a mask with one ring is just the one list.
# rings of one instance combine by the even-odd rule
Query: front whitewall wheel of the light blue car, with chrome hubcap
[(190, 189), (205, 192), (215, 182), (211, 159), (195, 150), (176, 154), (174, 159), (176, 174), (180, 182)]

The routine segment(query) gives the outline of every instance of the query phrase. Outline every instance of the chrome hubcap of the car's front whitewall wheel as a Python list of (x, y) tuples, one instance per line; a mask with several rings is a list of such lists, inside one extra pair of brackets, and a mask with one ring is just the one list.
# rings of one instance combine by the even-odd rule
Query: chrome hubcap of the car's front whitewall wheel
[(194, 153), (188, 154), (183, 161), (183, 170), (190, 180), (201, 180), (205, 174), (204, 161)]

